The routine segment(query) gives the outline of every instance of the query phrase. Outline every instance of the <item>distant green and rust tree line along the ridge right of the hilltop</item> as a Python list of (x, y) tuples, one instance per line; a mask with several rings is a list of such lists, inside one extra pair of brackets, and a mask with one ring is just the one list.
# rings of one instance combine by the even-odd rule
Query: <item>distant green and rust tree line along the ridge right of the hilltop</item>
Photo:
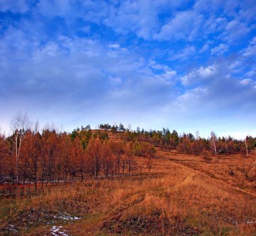
[[(106, 127), (108, 124), (100, 125)], [(118, 126), (117, 126), (118, 127)], [(102, 128), (106, 130), (106, 128)], [(108, 129), (109, 130), (109, 129)], [(110, 130), (113, 130), (110, 128)], [(162, 130), (144, 130), (137, 127), (136, 130), (125, 129), (125, 132), (119, 132), (119, 136), (124, 141), (147, 142), (154, 147), (164, 150), (177, 149), (177, 151), (186, 154), (201, 155), (205, 152), (214, 155), (229, 155), (241, 153), (248, 156), (252, 149), (256, 147), (256, 138), (246, 136), (243, 140), (233, 139), (231, 136), (218, 137), (211, 132), (208, 139), (199, 136), (197, 131), (195, 136), (191, 133), (178, 134), (176, 130), (170, 131), (168, 128)]]

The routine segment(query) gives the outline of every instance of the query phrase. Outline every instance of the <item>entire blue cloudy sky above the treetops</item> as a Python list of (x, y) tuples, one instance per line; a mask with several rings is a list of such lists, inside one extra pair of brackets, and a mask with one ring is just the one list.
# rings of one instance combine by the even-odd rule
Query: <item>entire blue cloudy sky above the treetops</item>
[(256, 136), (255, 0), (0, 0), (0, 126), (17, 112)]

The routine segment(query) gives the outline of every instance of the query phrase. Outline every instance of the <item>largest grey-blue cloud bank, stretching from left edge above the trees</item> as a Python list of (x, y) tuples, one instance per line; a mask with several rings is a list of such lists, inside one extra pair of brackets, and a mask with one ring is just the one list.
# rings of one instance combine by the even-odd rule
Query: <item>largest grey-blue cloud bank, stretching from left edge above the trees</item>
[[(6, 32), (9, 36), (0, 42), (1, 114), (22, 109), (36, 116), (47, 110), (44, 116), (51, 119), (55, 114), (59, 124), (67, 110), (75, 116), (90, 113), (101, 117), (111, 107), (123, 121), (125, 110), (139, 114), (141, 108), (146, 112), (160, 109), (159, 104), (176, 93), (176, 71), (163, 67), (160, 73), (154, 72), (150, 62), (134, 51), (126, 50), (123, 56), (121, 46), (64, 36), (42, 45), (27, 40), (25, 34), (13, 45), (10, 38), (14, 40), (18, 32)], [(32, 46), (29, 55), (28, 46)], [(13, 60), (15, 51), (19, 54), (15, 58), (22, 60)], [(6, 100), (9, 108), (3, 104)]]

